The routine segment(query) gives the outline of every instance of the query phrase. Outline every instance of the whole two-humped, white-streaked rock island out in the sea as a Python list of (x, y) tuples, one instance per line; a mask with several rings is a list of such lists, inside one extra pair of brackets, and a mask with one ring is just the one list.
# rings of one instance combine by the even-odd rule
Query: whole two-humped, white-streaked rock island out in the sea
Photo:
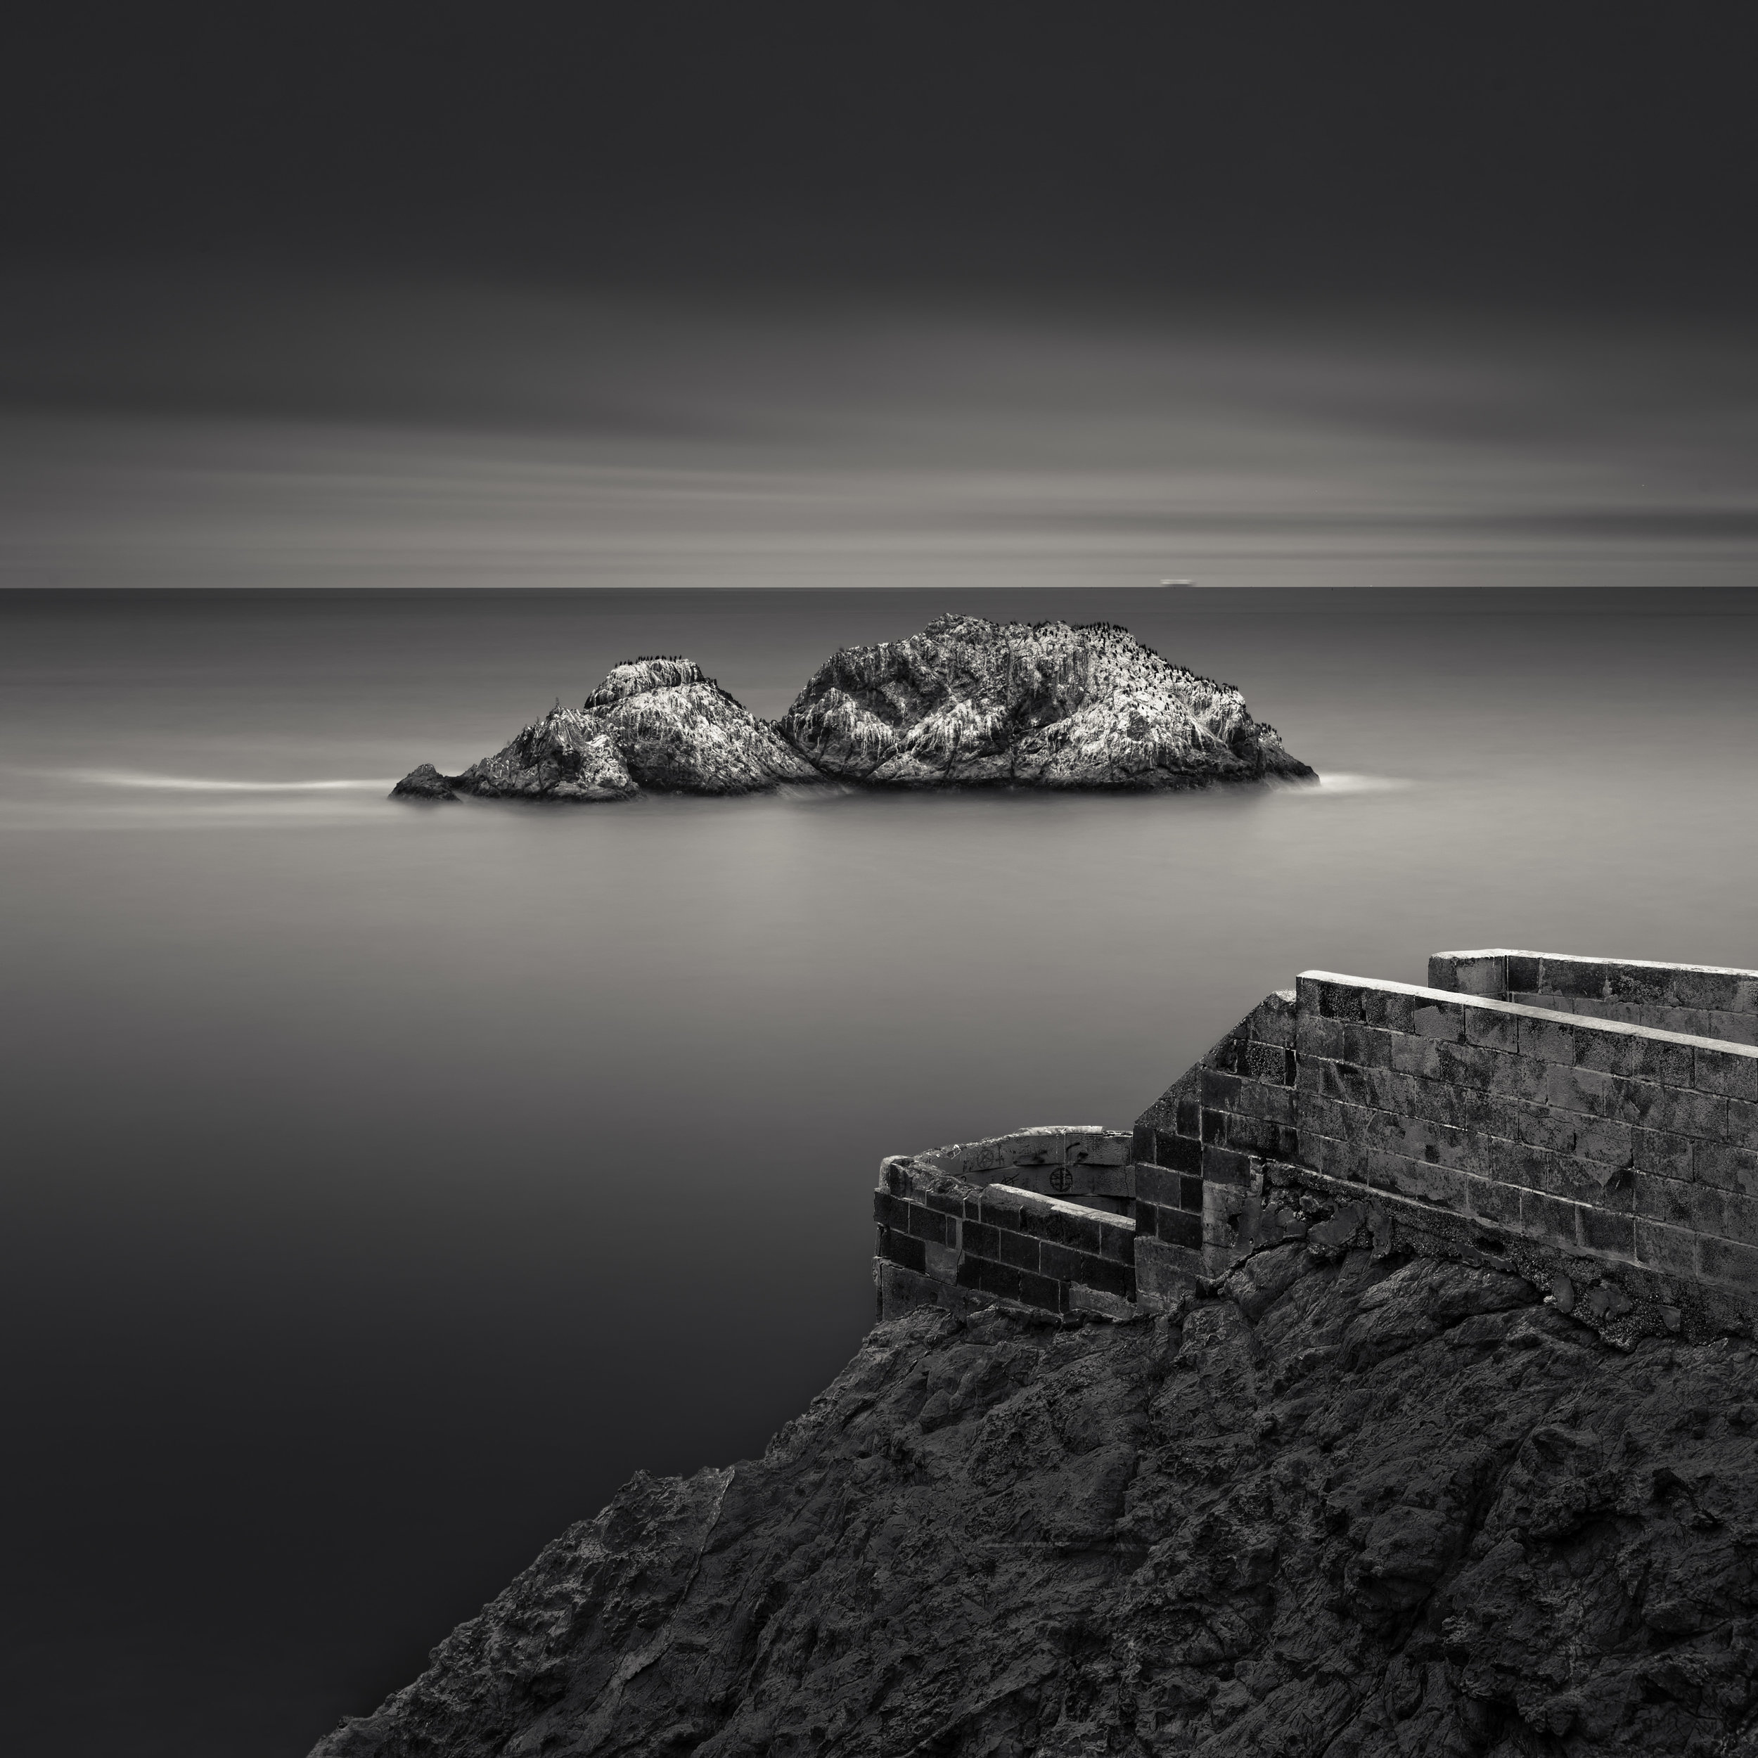
[(1116, 624), (951, 615), (833, 654), (781, 721), (751, 714), (693, 659), (635, 659), (461, 775), (424, 763), (392, 795), (594, 802), (814, 781), (1148, 789), (1311, 775), (1238, 689)]

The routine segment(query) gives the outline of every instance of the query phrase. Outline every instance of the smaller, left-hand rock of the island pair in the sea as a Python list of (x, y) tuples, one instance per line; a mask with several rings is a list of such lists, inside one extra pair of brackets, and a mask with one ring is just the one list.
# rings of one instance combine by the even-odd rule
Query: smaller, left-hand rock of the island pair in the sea
[(424, 763), (392, 795), (626, 800), (643, 788), (752, 793), (817, 779), (768, 721), (703, 675), (694, 659), (672, 656), (619, 665), (582, 707), (557, 703), (462, 775)]

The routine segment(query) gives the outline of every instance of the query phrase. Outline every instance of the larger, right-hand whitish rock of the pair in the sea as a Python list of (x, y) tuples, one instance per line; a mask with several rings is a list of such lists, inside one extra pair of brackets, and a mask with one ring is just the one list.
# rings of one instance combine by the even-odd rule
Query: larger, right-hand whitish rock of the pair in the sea
[(835, 654), (781, 730), (821, 770), (890, 786), (1190, 788), (1313, 772), (1231, 684), (1109, 622), (941, 617)]

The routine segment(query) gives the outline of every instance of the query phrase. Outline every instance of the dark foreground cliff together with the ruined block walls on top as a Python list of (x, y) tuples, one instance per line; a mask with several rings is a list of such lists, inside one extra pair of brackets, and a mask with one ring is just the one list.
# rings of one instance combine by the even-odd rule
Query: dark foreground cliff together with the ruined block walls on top
[(810, 1410), (313, 1758), (1749, 1758), (1758, 972), (1427, 977), (888, 1159)]

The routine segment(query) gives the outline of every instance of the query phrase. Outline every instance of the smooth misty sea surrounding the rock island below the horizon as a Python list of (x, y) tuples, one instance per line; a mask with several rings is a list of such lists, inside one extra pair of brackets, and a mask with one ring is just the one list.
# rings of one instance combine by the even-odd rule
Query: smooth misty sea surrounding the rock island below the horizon
[[(1311, 789), (397, 805), (615, 661), (1115, 619)], [(5, 1746), (295, 1758), (870, 1322), (883, 1153), (1306, 967), (1758, 965), (1742, 591), (0, 596)]]

